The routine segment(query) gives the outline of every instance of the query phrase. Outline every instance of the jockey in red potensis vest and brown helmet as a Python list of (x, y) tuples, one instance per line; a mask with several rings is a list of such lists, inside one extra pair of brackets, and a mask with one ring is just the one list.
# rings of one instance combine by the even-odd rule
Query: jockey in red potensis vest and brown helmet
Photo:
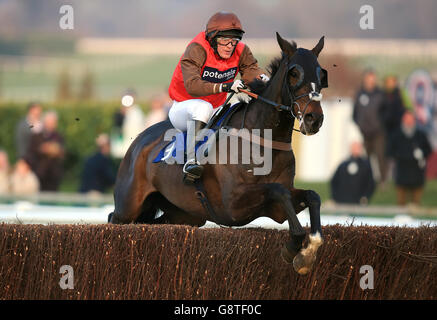
[[(173, 105), (169, 119), (173, 126), (187, 131), (188, 159), (185, 176), (201, 176), (203, 167), (196, 161), (194, 142), (196, 134), (205, 127), (214, 109), (226, 101), (227, 93), (239, 92), (255, 78), (268, 81), (258, 67), (249, 47), (240, 42), (243, 29), (233, 13), (218, 12), (187, 46), (173, 73), (169, 95)], [(237, 74), (242, 80), (234, 80)]]

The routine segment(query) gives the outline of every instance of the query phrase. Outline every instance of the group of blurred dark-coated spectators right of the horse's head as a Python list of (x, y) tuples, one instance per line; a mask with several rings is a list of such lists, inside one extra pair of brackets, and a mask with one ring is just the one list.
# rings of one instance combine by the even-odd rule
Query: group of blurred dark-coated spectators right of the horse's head
[[(350, 157), (335, 171), (330, 182), (332, 199), (367, 204), (375, 191), (384, 192), (387, 182), (393, 181), (398, 205), (420, 205), (432, 147), (397, 77), (386, 76), (381, 89), (376, 72), (366, 70), (352, 118), (362, 141), (352, 143)], [(428, 177), (433, 178), (431, 173)]]

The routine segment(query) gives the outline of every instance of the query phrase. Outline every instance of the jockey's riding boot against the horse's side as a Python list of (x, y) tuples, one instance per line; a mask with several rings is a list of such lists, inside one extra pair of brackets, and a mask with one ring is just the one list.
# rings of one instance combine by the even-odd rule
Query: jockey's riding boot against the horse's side
[(184, 165), (184, 182), (193, 183), (203, 173), (203, 166), (196, 160), (196, 136), (205, 127), (206, 123), (194, 120), (188, 122), (187, 128), (187, 162)]

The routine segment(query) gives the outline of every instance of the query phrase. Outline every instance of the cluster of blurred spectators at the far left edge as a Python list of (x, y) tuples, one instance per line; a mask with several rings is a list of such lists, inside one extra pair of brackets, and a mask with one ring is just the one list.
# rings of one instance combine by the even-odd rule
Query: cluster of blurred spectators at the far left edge
[(1, 193), (29, 195), (38, 191), (57, 191), (65, 157), (64, 139), (57, 130), (58, 115), (32, 102), (15, 130), (17, 161), (9, 168), (9, 157), (1, 152)]

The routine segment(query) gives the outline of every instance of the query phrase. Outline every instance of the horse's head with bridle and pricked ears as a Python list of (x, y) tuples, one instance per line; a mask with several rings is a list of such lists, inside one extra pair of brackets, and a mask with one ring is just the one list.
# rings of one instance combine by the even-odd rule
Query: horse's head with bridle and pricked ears
[(293, 116), (299, 120), (300, 131), (306, 135), (315, 134), (323, 123), (320, 91), (328, 87), (328, 72), (317, 61), (324, 37), (312, 50), (296, 48), (294, 42), (281, 38), (279, 33), (276, 37), (286, 67), (283, 101), (290, 104)]

